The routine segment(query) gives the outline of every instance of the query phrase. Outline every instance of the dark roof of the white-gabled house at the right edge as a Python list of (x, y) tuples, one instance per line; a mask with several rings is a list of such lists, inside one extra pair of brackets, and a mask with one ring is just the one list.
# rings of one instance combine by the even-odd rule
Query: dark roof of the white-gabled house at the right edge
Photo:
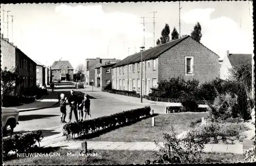
[(237, 54), (229, 53), (228, 60), (232, 66), (237, 66), (240, 63), (250, 62), (251, 63), (252, 54)]

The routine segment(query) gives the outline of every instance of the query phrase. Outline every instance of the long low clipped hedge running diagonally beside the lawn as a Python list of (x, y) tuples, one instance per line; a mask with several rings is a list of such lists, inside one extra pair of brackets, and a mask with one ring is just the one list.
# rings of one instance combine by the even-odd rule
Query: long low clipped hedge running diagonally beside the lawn
[(131, 122), (137, 122), (139, 119), (150, 116), (151, 107), (126, 110), (110, 116), (103, 116), (96, 119), (86, 120), (82, 122), (68, 123), (63, 126), (63, 136), (66, 139), (75, 138), (81, 135), (89, 135), (98, 131), (110, 129), (111, 127), (121, 126)]

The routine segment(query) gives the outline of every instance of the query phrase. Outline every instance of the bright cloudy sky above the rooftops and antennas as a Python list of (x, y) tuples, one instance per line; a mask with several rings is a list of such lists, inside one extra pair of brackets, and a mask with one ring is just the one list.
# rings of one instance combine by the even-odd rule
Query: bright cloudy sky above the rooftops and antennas
[[(3, 4), (1, 5), (3, 9)], [(230, 53), (253, 52), (252, 2), (181, 2), (182, 35), (190, 35), (199, 22), (201, 43), (221, 59)], [(6, 4), (1, 11), (1, 33), (32, 60), (50, 66), (54, 61), (70, 61), (73, 68), (88, 58), (125, 57), (145, 49), (168, 23), (179, 32), (179, 2)], [(145, 33), (143, 32), (143, 19)], [(4, 30), (3, 30), (4, 29)], [(3, 31), (2, 31), (3, 30)], [(12, 36), (13, 34), (13, 36)]]

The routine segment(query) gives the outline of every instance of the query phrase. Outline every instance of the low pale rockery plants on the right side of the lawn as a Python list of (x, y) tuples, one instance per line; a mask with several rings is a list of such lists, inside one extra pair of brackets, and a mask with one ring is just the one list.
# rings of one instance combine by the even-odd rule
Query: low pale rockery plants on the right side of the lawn
[(197, 126), (191, 130), (194, 137), (200, 142), (207, 144), (211, 141), (218, 144), (220, 140), (226, 142), (229, 137), (239, 137), (241, 131), (248, 128), (242, 123), (219, 123), (208, 121), (204, 125)]

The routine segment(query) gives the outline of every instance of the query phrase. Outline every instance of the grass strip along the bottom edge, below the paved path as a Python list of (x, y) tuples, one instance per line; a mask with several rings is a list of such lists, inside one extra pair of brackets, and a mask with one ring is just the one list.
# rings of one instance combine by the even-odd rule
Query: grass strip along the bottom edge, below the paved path
[[(92, 156), (91, 159), (87, 159), (84, 156), (71, 157), (67, 156), (67, 153), (76, 154), (79, 152), (77, 149), (56, 149), (48, 148), (48, 150), (39, 150), (39, 152), (57, 152), (60, 156), (57, 157), (24, 157), (15, 158), (12, 160), (3, 161), (5, 165), (82, 165), (82, 164), (143, 164), (147, 159), (151, 161), (157, 159), (154, 155), (154, 151), (115, 151), (115, 150), (95, 150), (97, 156)], [(47, 152), (48, 151), (48, 152)], [(241, 154), (230, 153), (203, 153), (202, 162), (243, 162), (244, 157)]]

